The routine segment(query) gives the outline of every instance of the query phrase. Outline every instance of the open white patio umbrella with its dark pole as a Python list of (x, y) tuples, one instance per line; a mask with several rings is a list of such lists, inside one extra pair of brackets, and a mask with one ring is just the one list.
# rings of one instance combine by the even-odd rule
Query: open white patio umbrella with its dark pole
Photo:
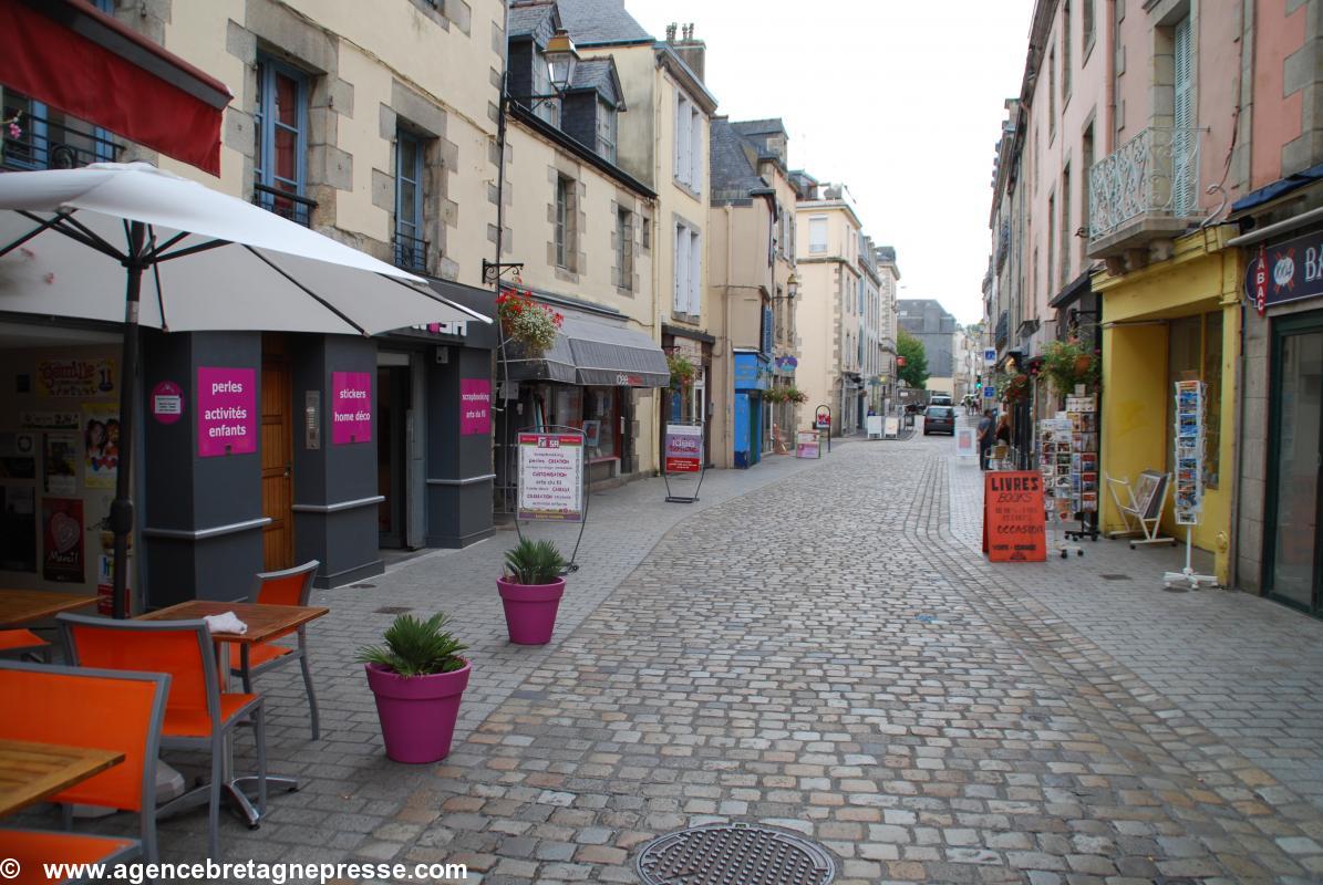
[[(118, 295), (115, 279), (126, 282)], [(146, 163), (0, 175), (0, 311), (123, 321), (115, 615), (124, 616), (136, 325), (377, 335), (491, 320), (351, 246)]]

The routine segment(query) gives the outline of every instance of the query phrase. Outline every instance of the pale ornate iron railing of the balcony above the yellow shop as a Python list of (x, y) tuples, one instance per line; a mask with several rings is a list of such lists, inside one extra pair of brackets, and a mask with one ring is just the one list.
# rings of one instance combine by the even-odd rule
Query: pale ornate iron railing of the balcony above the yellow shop
[(1151, 126), (1089, 169), (1089, 238), (1115, 233), (1146, 213), (1199, 210), (1197, 128)]

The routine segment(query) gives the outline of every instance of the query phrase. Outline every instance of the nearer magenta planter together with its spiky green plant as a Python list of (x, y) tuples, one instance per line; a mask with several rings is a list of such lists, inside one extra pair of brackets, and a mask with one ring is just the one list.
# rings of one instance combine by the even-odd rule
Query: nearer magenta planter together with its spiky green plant
[(459, 656), (466, 646), (447, 624), (445, 614), (427, 620), (400, 615), (382, 635), (384, 644), (359, 650), (357, 661), (365, 664), (377, 697), (386, 755), (396, 762), (435, 762), (450, 753), (471, 667)]

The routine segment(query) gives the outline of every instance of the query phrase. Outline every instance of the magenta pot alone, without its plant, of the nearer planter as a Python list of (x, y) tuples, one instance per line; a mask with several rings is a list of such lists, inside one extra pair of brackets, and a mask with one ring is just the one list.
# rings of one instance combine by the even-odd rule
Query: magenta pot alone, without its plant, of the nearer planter
[(380, 664), (366, 664), (366, 671), (368, 687), (377, 696), (386, 755), (413, 765), (445, 759), (471, 664), (430, 676), (401, 676)]

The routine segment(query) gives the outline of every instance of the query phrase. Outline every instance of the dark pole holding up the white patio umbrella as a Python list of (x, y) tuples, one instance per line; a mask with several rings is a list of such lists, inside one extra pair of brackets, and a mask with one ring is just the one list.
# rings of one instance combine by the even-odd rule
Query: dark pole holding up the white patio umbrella
[(124, 288), (124, 349), (119, 361), (119, 464), (115, 474), (115, 500), (110, 505), (110, 528), (115, 533), (114, 616), (127, 618), (128, 537), (134, 532), (134, 396), (138, 381), (138, 303), (143, 290), (143, 242), (147, 226), (128, 225), (128, 280)]

